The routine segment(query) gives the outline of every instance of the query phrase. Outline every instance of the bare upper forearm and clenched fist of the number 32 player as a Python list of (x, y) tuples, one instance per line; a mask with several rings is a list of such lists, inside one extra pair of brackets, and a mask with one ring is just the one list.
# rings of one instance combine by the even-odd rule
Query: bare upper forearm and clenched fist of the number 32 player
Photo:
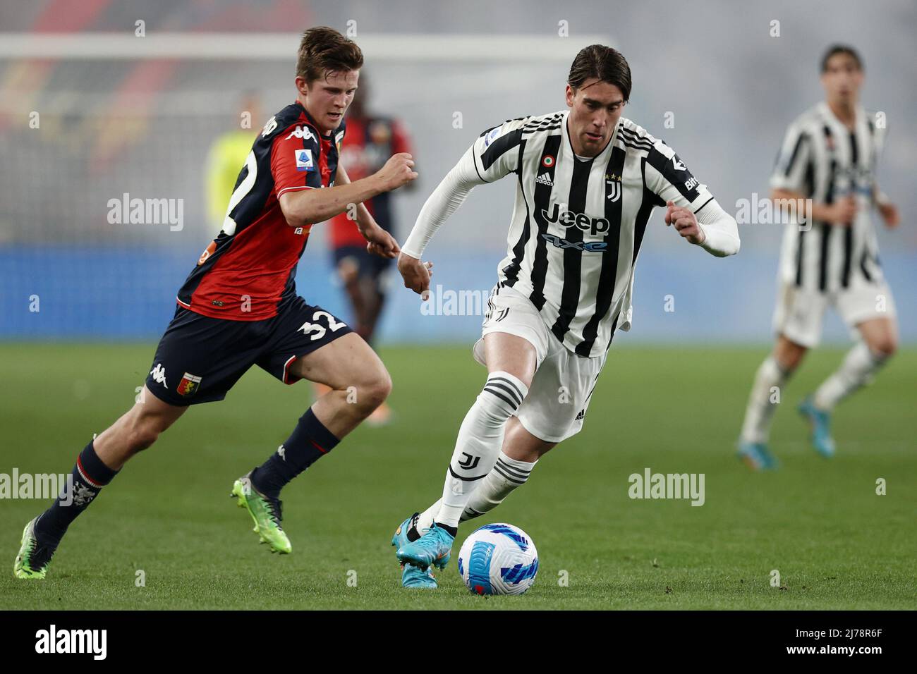
[(284, 192), (280, 196), (281, 210), (291, 227), (304, 227), (344, 213), (349, 204), (361, 204), (377, 194), (396, 190), (416, 177), (414, 159), (400, 152), (362, 180), (322, 190)]

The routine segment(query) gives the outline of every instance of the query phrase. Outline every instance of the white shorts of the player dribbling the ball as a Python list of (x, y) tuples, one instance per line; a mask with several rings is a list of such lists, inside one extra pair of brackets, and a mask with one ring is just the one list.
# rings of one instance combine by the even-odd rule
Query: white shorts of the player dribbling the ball
[(579, 433), (607, 352), (593, 358), (573, 353), (554, 337), (528, 297), (508, 286), (494, 287), (488, 301), (481, 339), (472, 349), (481, 365), (487, 365), (484, 336), (492, 332), (522, 337), (535, 347), (535, 377), (515, 414), (525, 430), (545, 442)]

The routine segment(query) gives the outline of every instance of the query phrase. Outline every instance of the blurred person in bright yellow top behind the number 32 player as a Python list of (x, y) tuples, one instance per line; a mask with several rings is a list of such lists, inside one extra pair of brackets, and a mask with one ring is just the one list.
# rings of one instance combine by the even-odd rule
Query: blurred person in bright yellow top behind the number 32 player
[[(246, 94), (239, 101), (238, 115), (235, 116), (238, 128), (217, 136), (210, 146), (204, 182), (207, 191), (207, 216), (215, 227), (223, 227), (226, 204), (236, 188), (238, 167), (245, 165), (246, 157), (251, 151), (251, 143), (259, 132), (258, 128), (252, 126), (259, 124), (261, 118), (258, 96)], [(242, 126), (243, 119), (248, 121), (247, 127)], [(349, 140), (350, 138), (348, 142)]]

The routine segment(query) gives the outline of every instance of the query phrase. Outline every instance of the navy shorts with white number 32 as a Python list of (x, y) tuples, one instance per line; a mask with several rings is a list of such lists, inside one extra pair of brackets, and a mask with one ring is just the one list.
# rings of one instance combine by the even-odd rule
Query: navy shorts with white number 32
[(337, 316), (296, 297), (278, 315), (230, 321), (178, 306), (156, 348), (147, 388), (164, 403), (223, 400), (252, 365), (286, 384), (293, 360), (352, 332)]

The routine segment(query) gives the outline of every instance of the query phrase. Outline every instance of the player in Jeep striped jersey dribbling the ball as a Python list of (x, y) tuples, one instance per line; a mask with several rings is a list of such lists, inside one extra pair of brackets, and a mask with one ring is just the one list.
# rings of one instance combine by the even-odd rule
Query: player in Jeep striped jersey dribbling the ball
[(476, 185), (513, 174), (508, 250), (474, 357), (487, 381), (458, 430), (442, 499), (392, 538), (405, 587), (436, 587), (461, 521), (492, 510), (537, 460), (580, 431), (615, 330), (631, 326), (634, 267), (656, 206), (688, 243), (739, 249), (735, 219), (679, 156), (622, 116), (627, 61), (592, 45), (577, 55), (568, 109), (481, 133), (427, 199), (398, 260), (404, 285), (429, 289), (421, 257)]

